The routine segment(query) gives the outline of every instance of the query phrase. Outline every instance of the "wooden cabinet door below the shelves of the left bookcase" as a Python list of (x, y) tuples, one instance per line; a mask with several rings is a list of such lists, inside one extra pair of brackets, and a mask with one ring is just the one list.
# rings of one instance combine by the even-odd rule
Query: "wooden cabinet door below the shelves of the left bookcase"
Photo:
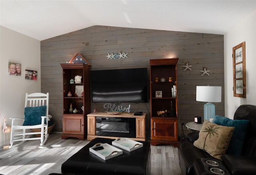
[(84, 115), (63, 115), (63, 134), (84, 135)]

